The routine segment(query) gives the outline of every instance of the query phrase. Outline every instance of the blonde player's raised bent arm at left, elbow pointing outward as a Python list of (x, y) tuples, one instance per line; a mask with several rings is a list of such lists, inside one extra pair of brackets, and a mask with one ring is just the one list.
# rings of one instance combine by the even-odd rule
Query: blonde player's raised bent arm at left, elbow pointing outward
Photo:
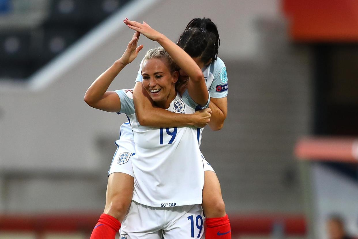
[(134, 33), (122, 57), (98, 76), (92, 85), (89, 86), (84, 95), (84, 101), (89, 106), (108, 112), (119, 112), (121, 110), (121, 101), (117, 93), (107, 91), (107, 89), (118, 73), (121, 72), (127, 64), (131, 63), (137, 57), (138, 52), (143, 48), (143, 45), (137, 47), (139, 35), (139, 32)]

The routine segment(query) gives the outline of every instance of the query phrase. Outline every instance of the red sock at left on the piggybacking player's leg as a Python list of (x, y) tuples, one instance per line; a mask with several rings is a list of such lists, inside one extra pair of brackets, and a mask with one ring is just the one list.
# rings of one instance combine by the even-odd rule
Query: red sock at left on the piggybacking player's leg
[(92, 231), (90, 239), (115, 239), (121, 223), (108, 214), (102, 214)]

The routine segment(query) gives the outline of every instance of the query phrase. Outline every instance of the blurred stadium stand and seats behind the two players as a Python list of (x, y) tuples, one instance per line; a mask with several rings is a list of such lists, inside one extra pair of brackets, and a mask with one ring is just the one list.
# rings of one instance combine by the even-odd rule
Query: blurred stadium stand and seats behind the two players
[(0, 239), (89, 238), (126, 119), (84, 92), (124, 51), (124, 18), (176, 41), (204, 16), (230, 89), (201, 148), (233, 238), (325, 239), (333, 214), (358, 235), (357, 0), (0, 0)]

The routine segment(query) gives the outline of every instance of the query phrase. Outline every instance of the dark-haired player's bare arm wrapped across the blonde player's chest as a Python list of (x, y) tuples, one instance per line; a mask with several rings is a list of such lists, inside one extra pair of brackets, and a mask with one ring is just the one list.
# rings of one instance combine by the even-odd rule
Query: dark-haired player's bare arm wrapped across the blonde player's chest
[(133, 101), (137, 119), (143, 126), (169, 128), (195, 125), (204, 127), (210, 121), (210, 109), (195, 114), (178, 114), (155, 106), (142, 82), (136, 82), (134, 86)]

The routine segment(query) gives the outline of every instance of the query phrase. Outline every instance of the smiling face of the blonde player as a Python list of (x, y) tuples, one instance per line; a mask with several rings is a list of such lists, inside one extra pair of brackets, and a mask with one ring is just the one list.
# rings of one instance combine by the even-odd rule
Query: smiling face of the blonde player
[(142, 64), (143, 86), (161, 108), (167, 109), (175, 98), (175, 82), (178, 80), (178, 71), (170, 72), (164, 58), (151, 58)]

